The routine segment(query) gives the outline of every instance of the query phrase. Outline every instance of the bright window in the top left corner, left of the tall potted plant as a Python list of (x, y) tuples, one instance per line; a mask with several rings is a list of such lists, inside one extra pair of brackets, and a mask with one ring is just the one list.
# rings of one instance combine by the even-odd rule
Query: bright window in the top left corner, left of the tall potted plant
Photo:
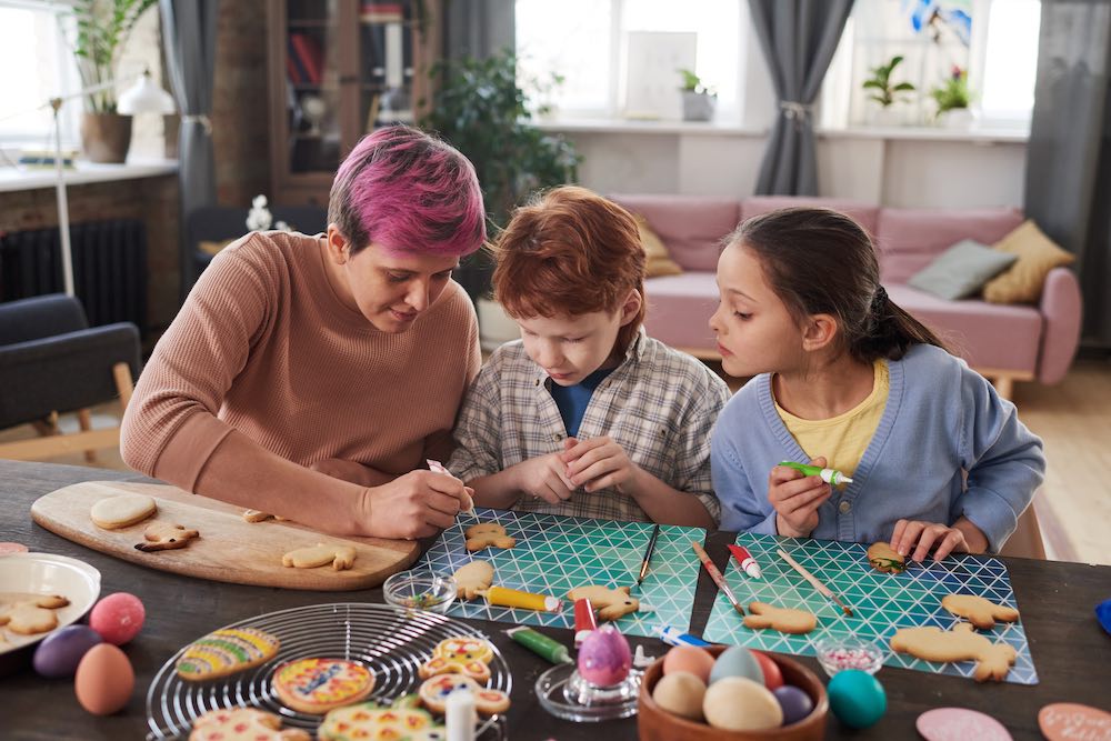
[[(53, 149), (50, 98), (80, 87), (77, 68), (59, 26), (57, 4), (0, 0), (0, 141)], [(18, 71), (17, 71), (18, 70)], [(77, 141), (80, 100), (61, 108), (62, 146)]]

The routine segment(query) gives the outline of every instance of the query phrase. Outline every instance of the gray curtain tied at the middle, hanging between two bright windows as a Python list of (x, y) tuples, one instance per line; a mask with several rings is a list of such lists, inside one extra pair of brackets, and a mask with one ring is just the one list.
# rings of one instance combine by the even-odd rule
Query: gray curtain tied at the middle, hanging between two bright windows
[(779, 113), (760, 164), (757, 194), (817, 196), (811, 107), (853, 0), (749, 0)]

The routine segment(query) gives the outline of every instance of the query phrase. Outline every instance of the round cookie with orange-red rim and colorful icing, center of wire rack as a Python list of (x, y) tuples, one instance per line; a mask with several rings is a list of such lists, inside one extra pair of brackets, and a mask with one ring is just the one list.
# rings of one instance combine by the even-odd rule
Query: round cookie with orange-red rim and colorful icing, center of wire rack
[(370, 694), (374, 672), (343, 659), (299, 659), (274, 670), (273, 688), (293, 710), (323, 715)]

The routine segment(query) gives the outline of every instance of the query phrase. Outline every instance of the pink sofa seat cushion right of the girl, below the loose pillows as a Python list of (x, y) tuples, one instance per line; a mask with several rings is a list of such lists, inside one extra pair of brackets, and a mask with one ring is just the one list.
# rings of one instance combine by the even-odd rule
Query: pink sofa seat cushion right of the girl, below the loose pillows
[(938, 332), (950, 352), (981, 370), (1034, 372), (1042, 316), (1033, 307), (1000, 306), (978, 299), (947, 301), (901, 283), (884, 283), (888, 296)]

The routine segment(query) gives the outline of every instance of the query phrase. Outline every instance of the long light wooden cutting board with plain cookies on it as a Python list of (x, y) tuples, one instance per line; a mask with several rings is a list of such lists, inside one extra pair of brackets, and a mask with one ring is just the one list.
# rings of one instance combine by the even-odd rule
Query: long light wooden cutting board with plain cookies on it
[[(158, 502), (154, 517), (119, 530), (104, 530), (89, 517), (92, 505), (107, 497), (148, 494)], [(31, 505), (31, 518), (67, 540), (131, 563), (173, 573), (227, 581), (233, 584), (283, 587), (318, 591), (369, 589), (417, 560), (419, 547), (409, 540), (336, 538), (321, 535), (293, 522), (247, 522), (243, 508), (152, 483), (86, 481), (41, 497)], [(144, 553), (143, 530), (153, 520), (186, 525), (200, 538), (178, 550)], [(291, 550), (337, 543), (353, 545), (352, 568), (334, 571), (331, 565), (293, 569), (281, 564)]]

